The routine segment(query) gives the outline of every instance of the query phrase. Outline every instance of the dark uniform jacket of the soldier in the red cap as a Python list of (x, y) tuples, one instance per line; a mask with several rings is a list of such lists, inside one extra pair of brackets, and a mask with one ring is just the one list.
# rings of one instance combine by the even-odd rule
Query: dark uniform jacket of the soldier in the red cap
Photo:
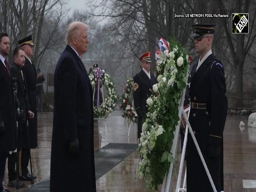
[(153, 73), (150, 73), (150, 78), (143, 70), (134, 77), (134, 107), (139, 116), (143, 116), (148, 112), (146, 100), (151, 96), (152, 87), (156, 84)]

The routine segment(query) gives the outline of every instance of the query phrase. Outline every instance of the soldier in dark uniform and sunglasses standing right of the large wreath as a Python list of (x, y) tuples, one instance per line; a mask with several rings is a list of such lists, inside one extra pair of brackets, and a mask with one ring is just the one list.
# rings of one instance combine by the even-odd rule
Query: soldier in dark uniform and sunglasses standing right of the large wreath
[[(223, 130), (227, 116), (224, 66), (212, 54), (215, 24), (195, 24), (195, 49), (200, 55), (192, 67), (189, 123), (203, 154), (217, 192), (223, 191)], [(187, 141), (187, 191), (213, 192), (192, 140)]]

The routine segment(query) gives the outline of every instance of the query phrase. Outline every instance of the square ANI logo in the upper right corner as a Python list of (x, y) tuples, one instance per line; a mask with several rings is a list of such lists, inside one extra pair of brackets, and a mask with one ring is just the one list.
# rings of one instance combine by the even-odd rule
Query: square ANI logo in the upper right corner
[(249, 33), (249, 13), (232, 13), (232, 33)]

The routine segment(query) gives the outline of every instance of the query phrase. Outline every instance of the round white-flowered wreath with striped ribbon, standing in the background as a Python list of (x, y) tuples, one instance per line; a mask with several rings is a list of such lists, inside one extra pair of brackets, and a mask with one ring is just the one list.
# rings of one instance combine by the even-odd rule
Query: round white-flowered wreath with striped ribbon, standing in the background
[[(116, 87), (112, 81), (111, 76), (109, 76), (108, 73), (105, 73), (105, 70), (101, 70), (100, 68), (93, 70), (93, 73), (89, 74), (89, 79), (92, 84), (94, 94), (98, 93), (98, 96), (96, 96), (98, 105), (93, 105), (94, 115), (104, 117), (106, 119), (108, 116), (111, 116), (111, 112), (116, 106)], [(107, 97), (103, 99), (102, 104), (99, 105), (100, 84), (106, 87)], [(96, 89), (98, 91), (95, 91)]]

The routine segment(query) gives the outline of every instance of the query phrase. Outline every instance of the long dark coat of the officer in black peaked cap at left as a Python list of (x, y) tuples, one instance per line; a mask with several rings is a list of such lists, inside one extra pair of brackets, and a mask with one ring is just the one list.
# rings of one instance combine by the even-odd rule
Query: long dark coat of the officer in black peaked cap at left
[(37, 137), (37, 87), (36, 87), (36, 70), (34, 64), (26, 58), (25, 65), (22, 67), (22, 71), (26, 80), (27, 96), (29, 98), (30, 111), (35, 115), (33, 119), (28, 119), (29, 121), (29, 140), (30, 147), (37, 148), (38, 137)]

